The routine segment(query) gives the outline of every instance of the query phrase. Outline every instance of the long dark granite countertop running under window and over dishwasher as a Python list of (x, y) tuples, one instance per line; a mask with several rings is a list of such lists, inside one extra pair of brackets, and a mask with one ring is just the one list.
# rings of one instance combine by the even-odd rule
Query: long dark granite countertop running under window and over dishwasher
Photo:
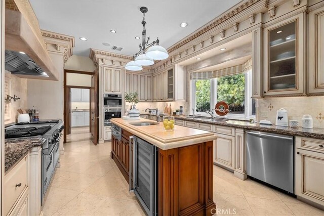
[(312, 129), (302, 128), (302, 127), (291, 128), (289, 126), (277, 126), (275, 124), (266, 125), (266, 124), (259, 124), (250, 121), (231, 120), (231, 119), (222, 119), (222, 118), (216, 118), (216, 120), (213, 121), (211, 118), (204, 118), (204, 117), (193, 118), (192, 116), (175, 117), (175, 119), (223, 125), (223, 126), (231, 126), (231, 127), (244, 128), (253, 131), (274, 133), (274, 134), (300, 136), (300, 137), (308, 137), (308, 138), (322, 139), (322, 140), (324, 139), (323, 128), (312, 128)]

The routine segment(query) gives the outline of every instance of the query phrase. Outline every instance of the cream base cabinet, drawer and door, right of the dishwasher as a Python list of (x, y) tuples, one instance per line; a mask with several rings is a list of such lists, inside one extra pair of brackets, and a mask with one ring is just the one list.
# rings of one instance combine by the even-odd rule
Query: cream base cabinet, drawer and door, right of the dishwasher
[(295, 194), (324, 207), (324, 141), (295, 138)]

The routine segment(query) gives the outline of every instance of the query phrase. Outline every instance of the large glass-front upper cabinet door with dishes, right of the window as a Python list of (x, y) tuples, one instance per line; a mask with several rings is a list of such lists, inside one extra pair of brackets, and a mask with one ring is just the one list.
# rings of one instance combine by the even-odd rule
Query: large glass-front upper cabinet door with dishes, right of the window
[(304, 16), (264, 29), (264, 96), (304, 95)]

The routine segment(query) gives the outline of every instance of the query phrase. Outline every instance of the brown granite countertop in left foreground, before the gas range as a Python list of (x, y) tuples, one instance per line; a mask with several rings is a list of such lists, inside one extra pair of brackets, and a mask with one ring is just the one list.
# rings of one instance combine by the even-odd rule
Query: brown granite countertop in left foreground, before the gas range
[(34, 146), (42, 146), (43, 137), (15, 138), (5, 140), (5, 173), (28, 154)]

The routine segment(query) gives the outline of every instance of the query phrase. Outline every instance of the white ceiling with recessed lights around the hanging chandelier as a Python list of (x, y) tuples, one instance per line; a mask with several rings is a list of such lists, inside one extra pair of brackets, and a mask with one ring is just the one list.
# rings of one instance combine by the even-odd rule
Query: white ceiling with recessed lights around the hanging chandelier
[[(142, 6), (148, 8), (146, 36), (150, 36), (150, 41), (158, 37), (160, 45), (168, 49), (239, 2), (30, 0), (41, 29), (74, 36), (73, 54), (80, 56), (89, 56), (90, 48), (130, 56), (137, 53), (142, 39), (143, 14), (139, 11)], [(188, 26), (181, 28), (181, 22), (187, 22)], [(117, 33), (110, 33), (111, 29)], [(79, 37), (86, 37), (88, 41)], [(111, 46), (102, 45), (104, 42)], [(113, 51), (112, 46), (124, 49)]]

